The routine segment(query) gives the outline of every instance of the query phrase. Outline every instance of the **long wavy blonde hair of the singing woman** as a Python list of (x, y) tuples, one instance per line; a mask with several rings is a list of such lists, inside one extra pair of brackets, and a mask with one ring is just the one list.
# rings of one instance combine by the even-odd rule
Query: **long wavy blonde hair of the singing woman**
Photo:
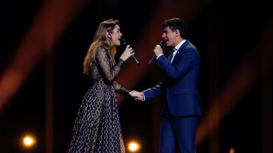
[(112, 34), (116, 25), (119, 25), (119, 21), (114, 19), (108, 19), (100, 23), (96, 30), (94, 41), (90, 45), (87, 55), (84, 58), (83, 73), (89, 74), (89, 70), (91, 70), (92, 66), (94, 65), (94, 62), (96, 60), (96, 53), (100, 46), (108, 50), (110, 57), (112, 58), (111, 61), (113, 62), (113, 64), (115, 64), (114, 59), (117, 50), (116, 46), (111, 46), (111, 41), (107, 36), (107, 32)]

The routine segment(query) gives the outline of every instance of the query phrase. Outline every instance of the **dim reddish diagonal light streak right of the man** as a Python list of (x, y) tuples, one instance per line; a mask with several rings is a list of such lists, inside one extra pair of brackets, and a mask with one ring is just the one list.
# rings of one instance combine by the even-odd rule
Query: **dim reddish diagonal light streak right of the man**
[(268, 56), (263, 58), (264, 64), (267, 67), (262, 67), (263, 73), (261, 75), (261, 66), (257, 59), (257, 57), (260, 56), (259, 52), (256, 50), (249, 51), (252, 54), (242, 60), (235, 73), (226, 83), (226, 87), (221, 94), (213, 100), (208, 112), (202, 117), (202, 121), (199, 123), (196, 131), (196, 147), (199, 147), (210, 134), (213, 134), (220, 124), (220, 121), (228, 115), (232, 108), (241, 102), (242, 98), (252, 89), (259, 77), (263, 77), (263, 75), (271, 70), (272, 62), (270, 61), (272, 61), (272, 56), (270, 55), (272, 55), (272, 48), (266, 48), (270, 46), (269, 44), (271, 44), (272, 40), (272, 37), (268, 35), (268, 33), (272, 33), (271, 27), (272, 24), (268, 24), (267, 27), (264, 28), (260, 42), (257, 43), (261, 44), (258, 49), (267, 52), (266, 55)]

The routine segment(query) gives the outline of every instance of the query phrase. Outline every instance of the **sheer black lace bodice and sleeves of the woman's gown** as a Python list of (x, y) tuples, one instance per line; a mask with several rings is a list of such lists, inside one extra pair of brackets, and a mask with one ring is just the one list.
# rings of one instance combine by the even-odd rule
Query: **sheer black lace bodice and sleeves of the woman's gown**
[(94, 83), (103, 82), (106, 84), (113, 84), (116, 93), (128, 96), (130, 90), (114, 81), (119, 72), (123, 70), (124, 63), (123, 59), (119, 59), (117, 63), (113, 65), (107, 49), (99, 47), (96, 52), (96, 61), (90, 71)]

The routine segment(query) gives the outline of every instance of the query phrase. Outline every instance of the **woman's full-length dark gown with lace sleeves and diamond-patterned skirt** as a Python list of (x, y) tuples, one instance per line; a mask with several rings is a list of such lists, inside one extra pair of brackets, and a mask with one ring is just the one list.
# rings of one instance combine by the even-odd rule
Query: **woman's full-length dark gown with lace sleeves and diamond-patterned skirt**
[(125, 153), (116, 93), (129, 90), (114, 81), (124, 61), (113, 65), (107, 49), (100, 47), (92, 75), (92, 86), (80, 105), (74, 124), (69, 153)]

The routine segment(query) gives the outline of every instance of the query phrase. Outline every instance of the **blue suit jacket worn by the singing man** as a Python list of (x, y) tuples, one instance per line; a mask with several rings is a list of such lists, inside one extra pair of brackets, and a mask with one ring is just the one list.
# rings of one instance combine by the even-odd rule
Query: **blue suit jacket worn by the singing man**
[(156, 63), (166, 72), (162, 81), (153, 88), (142, 91), (145, 101), (166, 94), (170, 112), (175, 117), (202, 115), (202, 105), (197, 90), (200, 57), (194, 45), (186, 40), (172, 57), (160, 56)]

